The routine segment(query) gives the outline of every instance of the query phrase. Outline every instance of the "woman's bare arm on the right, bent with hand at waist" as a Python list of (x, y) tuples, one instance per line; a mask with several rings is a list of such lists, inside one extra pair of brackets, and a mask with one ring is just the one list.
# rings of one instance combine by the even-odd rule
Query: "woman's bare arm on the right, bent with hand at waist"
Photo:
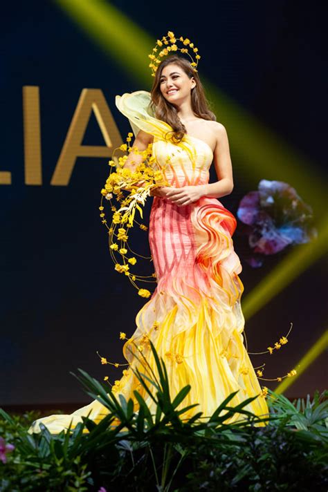
[(219, 122), (212, 122), (212, 124), (216, 137), (214, 164), (218, 180), (207, 185), (172, 189), (165, 198), (176, 203), (176, 205), (190, 205), (192, 202), (197, 202), (202, 196), (221, 198), (221, 196), (230, 195), (233, 191), (233, 165), (230, 158), (228, 135), (223, 124)]

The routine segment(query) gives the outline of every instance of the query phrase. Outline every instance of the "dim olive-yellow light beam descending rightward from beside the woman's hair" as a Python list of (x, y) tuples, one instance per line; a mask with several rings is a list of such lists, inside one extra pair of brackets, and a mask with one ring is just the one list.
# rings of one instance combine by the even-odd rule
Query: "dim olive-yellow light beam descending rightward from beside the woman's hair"
[[(203, 77), (202, 77), (203, 78)], [(217, 119), (227, 130), (235, 169), (241, 176), (288, 182), (311, 207), (322, 209), (327, 195), (320, 169), (275, 135), (253, 115), (228, 98), (210, 81), (204, 81)]]

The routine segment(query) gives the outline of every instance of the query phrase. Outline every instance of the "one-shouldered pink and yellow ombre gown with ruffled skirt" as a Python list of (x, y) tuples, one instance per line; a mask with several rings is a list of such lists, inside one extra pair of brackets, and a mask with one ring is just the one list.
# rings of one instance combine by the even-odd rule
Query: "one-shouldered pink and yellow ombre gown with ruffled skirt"
[[(170, 140), (171, 126), (157, 120), (149, 110), (146, 91), (116, 96), (116, 105), (129, 118), (134, 133), (143, 129), (154, 136), (153, 155), (172, 187), (203, 185), (208, 182), (212, 150), (198, 138), (185, 135), (179, 144)], [(198, 403), (185, 417), (199, 411), (210, 416), (231, 392), (236, 405), (259, 395), (246, 406), (256, 415), (266, 415), (266, 399), (244, 346), (244, 316), (241, 296), (242, 272), (231, 236), (237, 220), (216, 198), (203, 197), (185, 207), (170, 200), (154, 198), (149, 223), (149, 244), (158, 285), (150, 300), (136, 316), (134, 343), (127, 341), (123, 352), (130, 368), (116, 381), (113, 391), (126, 399), (138, 390), (154, 411), (152, 399), (140, 386), (131, 368), (140, 367), (134, 353), (143, 356), (154, 369), (148, 339), (165, 361), (172, 398), (190, 384), (183, 406)], [(136, 348), (138, 347), (138, 349)], [(140, 352), (138, 352), (140, 357)], [(136, 404), (136, 409), (138, 408)], [(71, 421), (73, 428), (82, 415), (99, 422), (107, 410), (97, 400), (71, 415), (51, 415), (39, 422), (51, 433), (59, 433)], [(240, 418), (235, 415), (230, 422)], [(227, 421), (228, 423), (228, 421)]]

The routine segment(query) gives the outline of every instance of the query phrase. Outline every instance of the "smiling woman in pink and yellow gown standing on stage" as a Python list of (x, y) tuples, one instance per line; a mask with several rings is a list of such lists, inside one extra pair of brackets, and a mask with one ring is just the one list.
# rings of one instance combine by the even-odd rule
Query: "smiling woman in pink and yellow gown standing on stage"
[[(116, 105), (136, 133), (134, 146), (143, 151), (152, 143), (153, 156), (170, 186), (152, 192), (149, 245), (158, 285), (136, 316), (136, 331), (123, 348), (130, 368), (112, 390), (134, 399), (136, 409), (133, 392), (138, 390), (154, 410), (131, 370), (140, 370), (135, 356), (141, 352), (155, 370), (150, 339), (165, 361), (172, 397), (191, 385), (183, 406), (199, 406), (185, 417), (200, 410), (204, 417), (212, 415), (236, 390), (230, 404), (259, 395), (246, 410), (265, 415), (266, 400), (243, 344), (244, 286), (238, 276), (242, 265), (231, 239), (237, 221), (217, 200), (233, 191), (226, 129), (208, 109), (197, 71), (178, 55), (158, 65), (151, 94), (117, 96)], [(209, 184), (212, 160), (217, 182)], [(125, 165), (133, 170), (138, 162), (140, 156), (130, 153)], [(38, 432), (43, 422), (58, 433), (71, 421), (74, 428), (82, 415), (99, 422), (107, 413), (93, 401), (71, 415), (39, 419), (30, 431)]]

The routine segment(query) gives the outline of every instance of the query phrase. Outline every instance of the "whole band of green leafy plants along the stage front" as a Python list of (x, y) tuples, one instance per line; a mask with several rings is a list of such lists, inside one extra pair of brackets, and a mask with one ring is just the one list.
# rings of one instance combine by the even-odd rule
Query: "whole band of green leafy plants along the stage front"
[[(88, 395), (109, 410), (99, 424), (84, 417), (66, 433), (51, 435), (42, 426), (42, 433), (30, 435), (38, 415), (10, 417), (0, 410), (0, 436), (15, 445), (8, 462), (0, 462), (0, 490), (327, 490), (327, 392), (292, 404), (269, 390), (267, 419), (245, 410), (256, 397), (230, 406), (233, 392), (210, 419), (201, 413), (188, 418), (196, 404), (181, 406), (190, 386), (172, 399), (165, 363), (152, 351), (156, 374), (144, 358), (143, 373), (135, 374), (156, 404), (153, 414), (140, 393), (134, 392), (136, 411), (131, 399), (116, 397), (81, 369), (76, 377)], [(235, 414), (239, 421), (226, 424)]]

